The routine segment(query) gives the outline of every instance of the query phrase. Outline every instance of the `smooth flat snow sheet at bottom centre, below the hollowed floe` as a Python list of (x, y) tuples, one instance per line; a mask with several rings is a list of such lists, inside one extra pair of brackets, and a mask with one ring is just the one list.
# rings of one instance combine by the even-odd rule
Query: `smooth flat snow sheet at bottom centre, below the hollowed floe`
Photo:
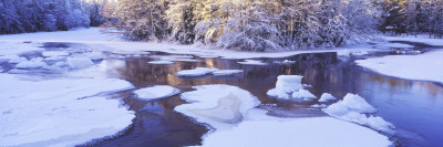
[[(206, 147), (388, 147), (388, 137), (356, 124), (330, 117), (278, 118), (250, 116), (250, 120), (205, 137)], [(258, 117), (258, 118), (257, 118)]]

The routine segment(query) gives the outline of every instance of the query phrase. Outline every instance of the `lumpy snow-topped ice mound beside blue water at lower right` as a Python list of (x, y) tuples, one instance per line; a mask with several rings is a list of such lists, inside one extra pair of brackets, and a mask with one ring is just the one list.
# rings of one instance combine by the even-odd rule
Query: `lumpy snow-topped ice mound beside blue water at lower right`
[(347, 94), (342, 101), (331, 104), (321, 111), (338, 119), (357, 123), (384, 133), (393, 133), (394, 125), (391, 123), (379, 116), (367, 117), (365, 114), (375, 113), (377, 108), (372, 107), (359, 95)]

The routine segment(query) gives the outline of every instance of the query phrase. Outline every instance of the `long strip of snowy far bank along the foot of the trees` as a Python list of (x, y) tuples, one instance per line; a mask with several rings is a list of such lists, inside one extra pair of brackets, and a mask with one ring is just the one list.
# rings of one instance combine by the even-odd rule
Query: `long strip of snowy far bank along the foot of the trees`
[[(85, 35), (87, 34), (87, 35)], [(346, 52), (347, 54), (359, 54), (371, 51), (380, 51), (368, 45), (352, 45), (339, 48), (334, 50), (307, 50), (307, 51), (284, 51), (284, 52), (241, 52), (230, 50), (207, 50), (196, 45), (176, 45), (171, 43), (146, 43), (146, 42), (128, 42), (124, 41), (115, 33), (102, 33), (100, 28), (78, 29), (75, 31), (59, 31), (59, 32), (38, 32), (23, 34), (0, 35), (1, 42), (16, 42), (23, 44), (24, 41), (31, 41), (31, 44), (39, 42), (71, 42), (85, 43), (93, 45), (95, 51), (107, 52), (144, 52), (144, 51), (162, 51), (176, 54), (195, 54), (202, 57), (223, 59), (256, 59), (256, 57), (285, 57), (302, 53), (322, 53), (322, 52)], [(0, 51), (2, 52), (2, 51)], [(183, 59), (186, 60), (186, 59)], [(190, 62), (198, 62), (192, 60)]]

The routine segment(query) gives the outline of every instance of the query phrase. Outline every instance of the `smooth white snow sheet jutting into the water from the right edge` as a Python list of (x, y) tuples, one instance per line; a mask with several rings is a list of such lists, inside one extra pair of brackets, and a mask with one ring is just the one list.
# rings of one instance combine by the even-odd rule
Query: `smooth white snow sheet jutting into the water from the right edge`
[(418, 55), (387, 55), (357, 60), (356, 63), (374, 72), (406, 80), (443, 83), (443, 50)]

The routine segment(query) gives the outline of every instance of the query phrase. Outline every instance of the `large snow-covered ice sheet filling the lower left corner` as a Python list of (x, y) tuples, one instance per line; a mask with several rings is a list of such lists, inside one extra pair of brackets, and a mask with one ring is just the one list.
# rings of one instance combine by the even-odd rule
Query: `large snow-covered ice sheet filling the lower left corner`
[(133, 112), (99, 94), (132, 88), (116, 78), (25, 81), (0, 74), (2, 146), (75, 146), (113, 136), (132, 124)]

